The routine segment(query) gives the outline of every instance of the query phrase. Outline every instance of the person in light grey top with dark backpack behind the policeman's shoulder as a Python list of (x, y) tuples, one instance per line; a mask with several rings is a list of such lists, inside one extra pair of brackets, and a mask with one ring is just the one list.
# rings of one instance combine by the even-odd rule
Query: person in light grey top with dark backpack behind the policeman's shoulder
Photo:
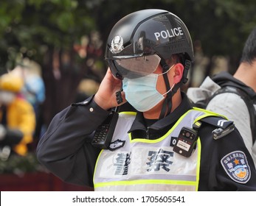
[(235, 122), (256, 166), (256, 27), (243, 47), (235, 74), (222, 71), (207, 77), (199, 88), (188, 88), (187, 96), (198, 107), (221, 113)]

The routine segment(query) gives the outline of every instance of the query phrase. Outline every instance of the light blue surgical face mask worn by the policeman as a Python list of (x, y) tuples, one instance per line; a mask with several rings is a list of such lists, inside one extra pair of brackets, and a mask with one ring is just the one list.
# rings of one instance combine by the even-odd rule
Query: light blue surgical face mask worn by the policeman
[[(173, 65), (170, 68), (172, 67)], [(165, 99), (164, 95), (166, 93), (172, 90), (173, 86), (170, 88), (170, 90), (163, 94), (156, 90), (156, 83), (159, 75), (162, 74), (148, 74), (145, 77), (139, 77), (136, 79), (124, 78), (122, 80), (122, 90), (125, 92), (125, 99), (136, 110), (140, 112), (151, 110), (156, 106), (156, 104), (159, 104), (159, 102)]]

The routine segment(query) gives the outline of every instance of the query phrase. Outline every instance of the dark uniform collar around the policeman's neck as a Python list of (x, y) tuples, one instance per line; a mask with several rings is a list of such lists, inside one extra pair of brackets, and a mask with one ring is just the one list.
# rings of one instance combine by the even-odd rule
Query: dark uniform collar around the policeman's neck
[[(168, 116), (165, 118), (160, 119), (159, 121), (156, 121), (154, 124), (152, 124), (150, 129), (163, 129), (167, 126), (173, 125), (184, 113), (187, 112), (187, 110), (190, 110), (191, 104), (189, 99), (187, 98), (187, 95), (183, 92), (181, 92), (182, 101), (181, 104)], [(128, 132), (134, 132), (135, 130), (147, 130), (147, 125), (145, 124), (145, 118), (142, 113), (137, 113), (136, 118), (134, 119), (134, 123), (131, 126), (131, 129)]]

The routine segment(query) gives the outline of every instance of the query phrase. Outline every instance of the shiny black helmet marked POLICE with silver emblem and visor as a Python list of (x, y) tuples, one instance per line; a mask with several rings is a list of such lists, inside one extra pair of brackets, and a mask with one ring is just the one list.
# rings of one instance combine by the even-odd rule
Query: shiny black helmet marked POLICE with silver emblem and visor
[[(105, 59), (115, 77), (136, 78), (153, 73), (148, 65), (158, 65), (161, 59), (167, 60), (173, 54), (184, 54), (185, 60), (193, 62), (193, 43), (187, 26), (173, 13), (149, 9), (126, 15), (114, 25)], [(132, 60), (145, 60), (144, 68), (134, 67), (138, 61), (133, 65)]]

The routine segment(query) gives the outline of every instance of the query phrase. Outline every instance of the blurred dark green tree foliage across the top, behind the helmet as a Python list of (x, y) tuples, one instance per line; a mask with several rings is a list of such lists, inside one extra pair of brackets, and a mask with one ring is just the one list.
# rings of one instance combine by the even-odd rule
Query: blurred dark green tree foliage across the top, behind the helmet
[(12, 69), (18, 57), (41, 63), (50, 46), (70, 49), (93, 30), (105, 43), (111, 26), (135, 10), (159, 8), (179, 15), (208, 57), (237, 59), (256, 24), (254, 0), (9, 0), (0, 4), (1, 72)]

